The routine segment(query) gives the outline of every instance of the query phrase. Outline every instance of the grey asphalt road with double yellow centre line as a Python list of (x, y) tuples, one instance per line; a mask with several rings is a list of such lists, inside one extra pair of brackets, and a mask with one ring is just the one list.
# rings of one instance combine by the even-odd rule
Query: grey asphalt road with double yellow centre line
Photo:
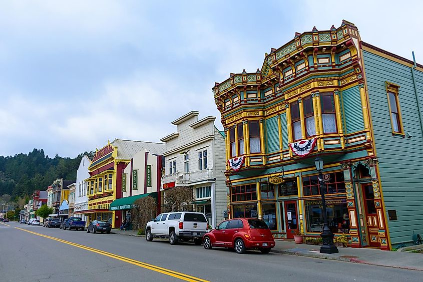
[[(421, 271), (0, 224), (0, 281), (422, 281)], [(16, 228), (17, 227), (17, 228)], [(21, 229), (18, 229), (21, 228)]]

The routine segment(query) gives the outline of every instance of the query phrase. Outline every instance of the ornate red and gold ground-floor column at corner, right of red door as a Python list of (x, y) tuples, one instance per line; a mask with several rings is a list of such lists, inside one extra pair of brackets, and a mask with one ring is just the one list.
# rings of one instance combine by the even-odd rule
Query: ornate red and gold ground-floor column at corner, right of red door
[(379, 225), (378, 240), (380, 242), (380, 249), (389, 250), (388, 236), (386, 232), (385, 216), (383, 213), (382, 197), (379, 187), (379, 180), (377, 179), (376, 165), (377, 159), (368, 159), (365, 161), (370, 169), (371, 186), (373, 187), (374, 207), (376, 208), (377, 224)]

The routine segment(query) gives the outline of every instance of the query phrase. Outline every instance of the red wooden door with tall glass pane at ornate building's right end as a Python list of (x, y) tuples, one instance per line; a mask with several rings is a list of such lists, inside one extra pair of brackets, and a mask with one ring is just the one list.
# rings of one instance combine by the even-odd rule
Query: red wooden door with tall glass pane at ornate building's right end
[(379, 242), (379, 224), (377, 220), (376, 207), (374, 206), (374, 194), (373, 187), (371, 184), (362, 184), (361, 185), (363, 192), (363, 201), (364, 209), (366, 212), (366, 225), (367, 225), (367, 234), (368, 242), (371, 247), (380, 247)]

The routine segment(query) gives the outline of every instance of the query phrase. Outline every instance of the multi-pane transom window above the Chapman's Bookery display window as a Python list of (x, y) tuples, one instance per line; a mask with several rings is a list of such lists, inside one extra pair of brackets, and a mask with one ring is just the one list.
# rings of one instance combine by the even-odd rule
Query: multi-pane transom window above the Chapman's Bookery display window
[[(320, 195), (317, 175), (303, 176), (302, 187), (304, 196)], [(329, 182), (323, 184), (325, 194), (345, 193), (344, 174), (342, 171), (329, 173)]]

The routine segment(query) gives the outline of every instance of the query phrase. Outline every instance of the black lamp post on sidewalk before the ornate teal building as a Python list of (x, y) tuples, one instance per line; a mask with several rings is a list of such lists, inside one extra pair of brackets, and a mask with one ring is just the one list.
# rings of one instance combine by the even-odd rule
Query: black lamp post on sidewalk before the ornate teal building
[(327, 222), (327, 214), (326, 214), (326, 200), (324, 199), (324, 187), (323, 187), (323, 160), (320, 157), (317, 157), (314, 160), (314, 165), (316, 166), (316, 170), (319, 172), (319, 188), (320, 194), (322, 195), (322, 212), (323, 212), (323, 231), (321, 233), (323, 244), (320, 247), (321, 253), (337, 253), (338, 248), (333, 243), (333, 233), (330, 231), (329, 224)]

